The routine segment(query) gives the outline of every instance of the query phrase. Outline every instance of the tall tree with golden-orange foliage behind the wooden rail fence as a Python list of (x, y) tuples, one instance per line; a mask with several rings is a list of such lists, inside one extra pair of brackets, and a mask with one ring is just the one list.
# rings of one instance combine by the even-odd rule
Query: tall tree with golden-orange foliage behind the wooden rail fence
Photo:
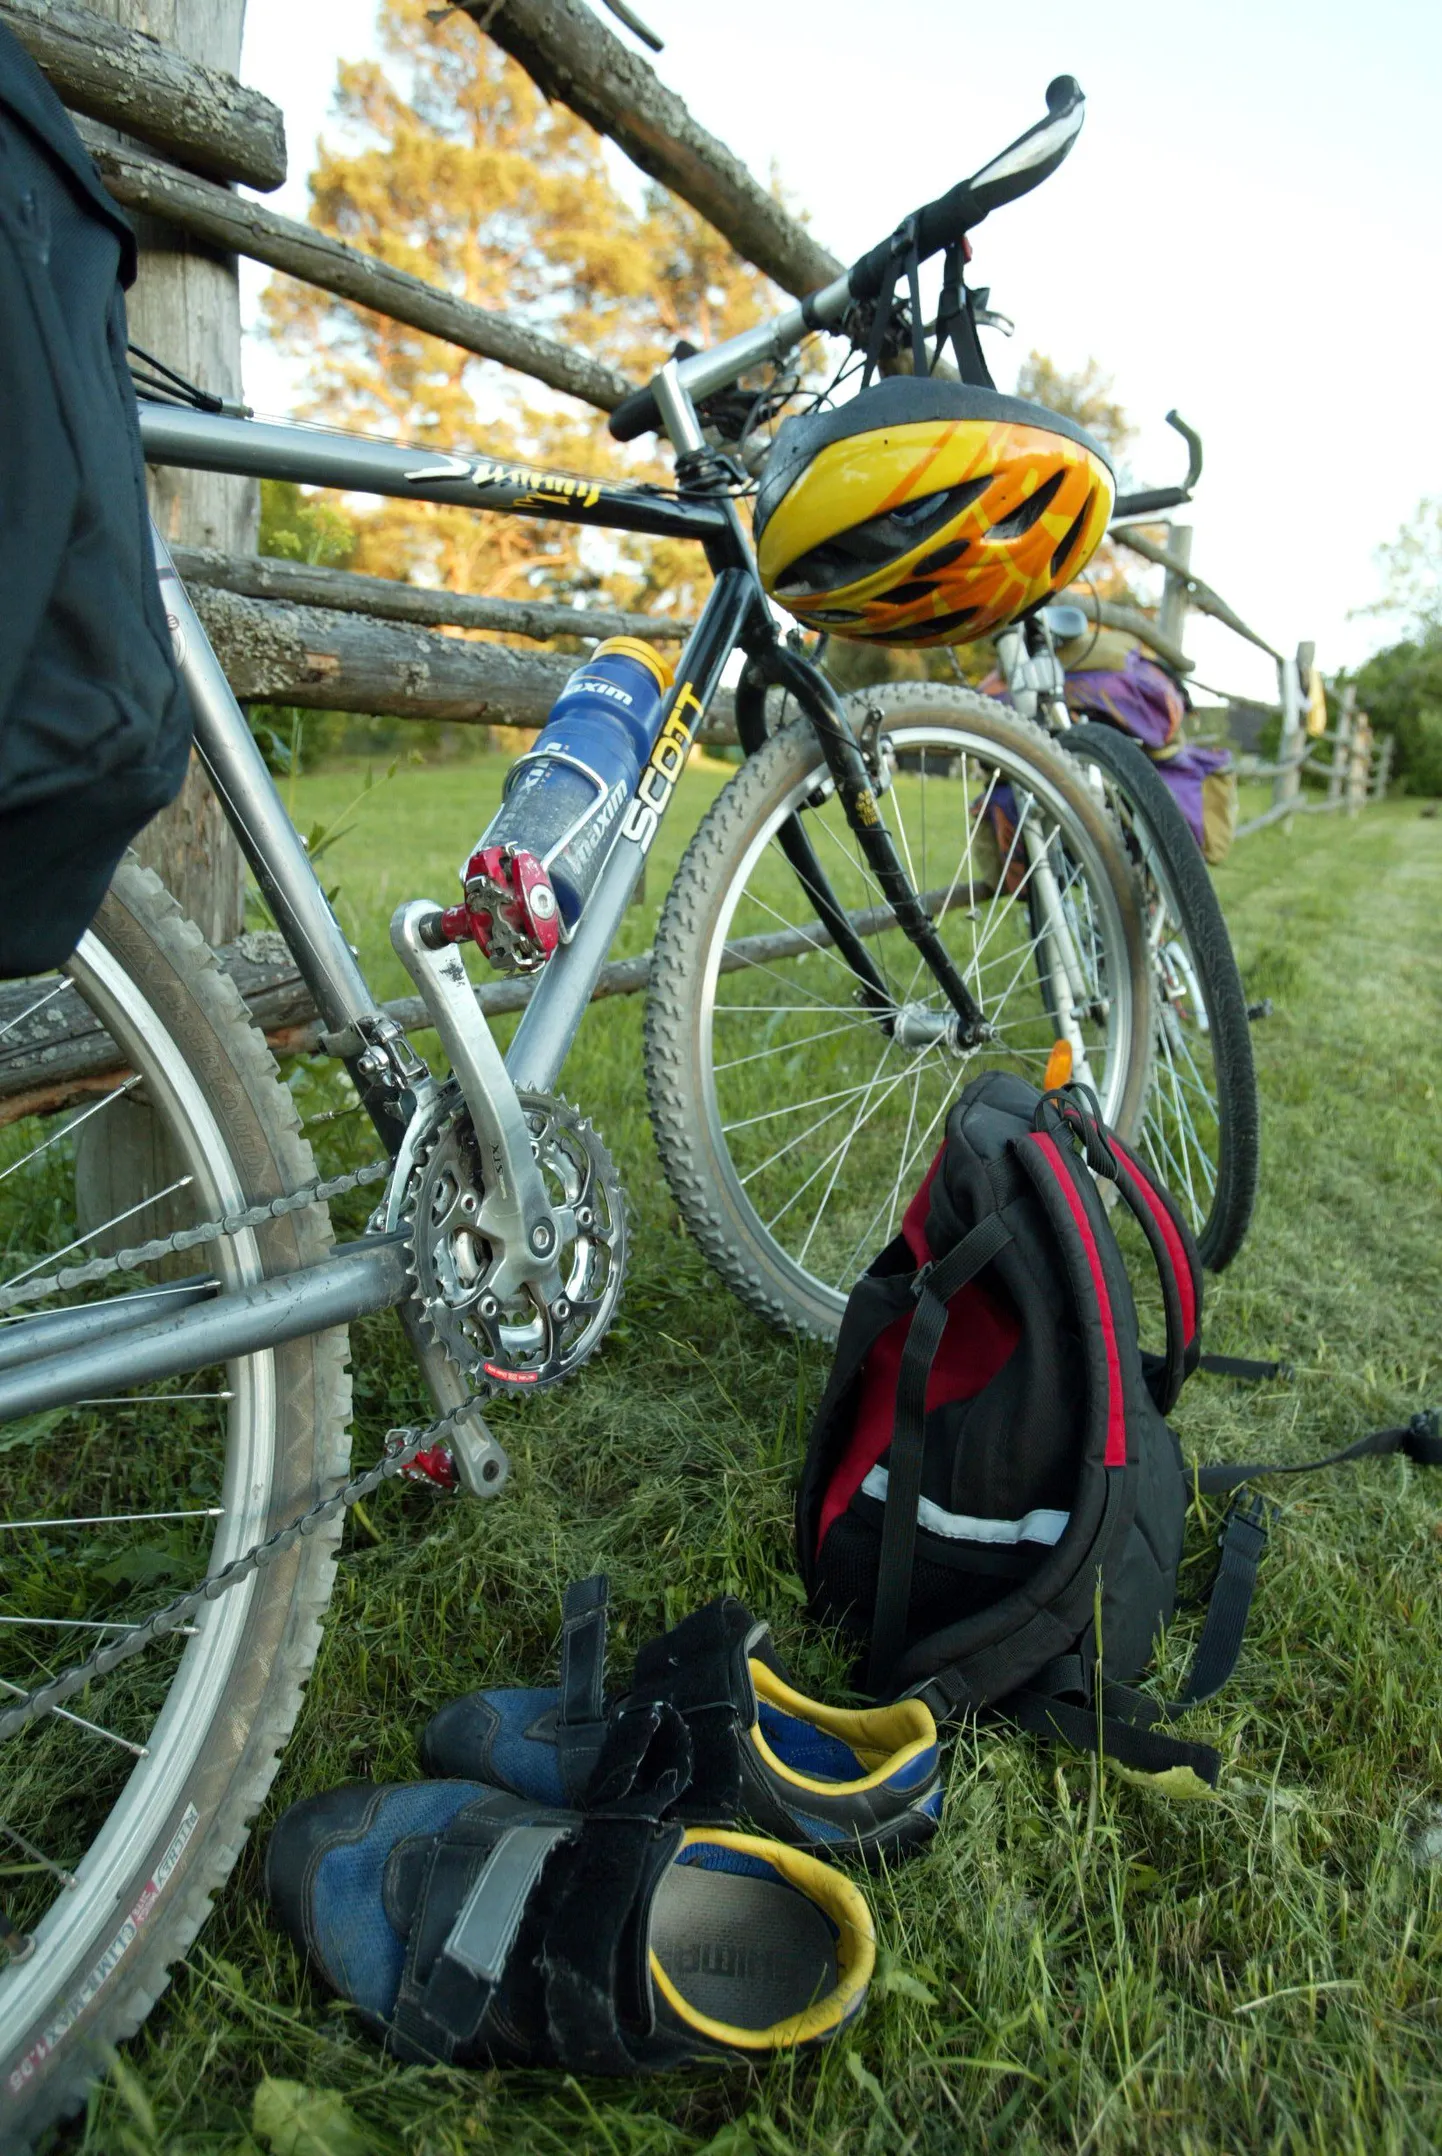
[[(550, 106), (474, 24), (427, 0), (386, 0), (384, 63), (343, 63), (349, 144), (321, 142), (310, 222), (369, 252), (586, 345), (636, 379), (677, 336), (696, 343), (776, 308), (765, 278), (660, 192), (627, 203), (582, 121)], [(308, 410), (435, 448), (483, 444), (584, 472), (636, 470), (593, 416), (468, 360), (453, 345), (276, 280), (272, 334), (306, 356)], [(655, 468), (655, 476), (664, 476)], [(384, 502), (356, 517), (356, 567), (487, 595), (653, 593), (690, 610), (696, 550), (578, 526)]]

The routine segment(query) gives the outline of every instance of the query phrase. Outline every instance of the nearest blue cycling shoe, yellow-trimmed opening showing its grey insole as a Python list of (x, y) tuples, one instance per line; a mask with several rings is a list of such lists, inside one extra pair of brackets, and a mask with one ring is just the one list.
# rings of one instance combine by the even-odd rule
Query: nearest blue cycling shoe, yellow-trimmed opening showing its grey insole
[[(660, 1781), (683, 1731), (657, 1725)], [(653, 1777), (655, 1779), (655, 1777)], [(291, 1805), (272, 1906), (397, 2057), (638, 2074), (828, 2042), (875, 1960), (858, 1889), (800, 1850), (444, 1781)]]

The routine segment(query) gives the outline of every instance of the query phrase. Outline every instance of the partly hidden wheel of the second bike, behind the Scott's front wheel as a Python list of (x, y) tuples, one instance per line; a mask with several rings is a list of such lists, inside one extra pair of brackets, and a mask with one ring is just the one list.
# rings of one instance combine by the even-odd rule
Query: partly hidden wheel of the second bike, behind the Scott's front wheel
[(1097, 772), (1142, 886), (1155, 1056), (1140, 1145), (1192, 1222), (1203, 1266), (1222, 1272), (1261, 1173), (1252, 1028), (1226, 921), (1186, 817), (1136, 742), (1091, 722), (1060, 746)]

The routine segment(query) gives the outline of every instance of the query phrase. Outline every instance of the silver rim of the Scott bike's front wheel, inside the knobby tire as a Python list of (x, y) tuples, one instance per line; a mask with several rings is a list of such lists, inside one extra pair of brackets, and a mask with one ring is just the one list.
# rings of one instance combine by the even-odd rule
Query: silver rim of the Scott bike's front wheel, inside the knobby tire
[[(910, 722), (899, 720), (897, 724), (886, 729), (886, 737), (890, 740), (899, 757), (920, 755), (925, 759), (927, 752), (935, 752), (938, 757), (951, 761), (961, 759), (961, 772), (944, 780), (944, 785), (957, 787), (959, 796), (970, 798), (972, 793), (979, 793), (981, 798), (985, 798), (987, 785), (992, 783), (987, 774), (1000, 772), (1002, 783), (1011, 780), (1015, 780), (1017, 785), (1024, 783), (1024, 789), (1032, 796), (1035, 802), (1041, 804), (1041, 815), (1050, 817), (1052, 828), (1073, 828), (1073, 804), (1067, 802), (1060, 787), (1052, 783), (1045, 763), (1037, 759), (1037, 755), (1030, 750), (1030, 744), (1024, 742), (1020, 735), (1015, 746), (1007, 748), (1004, 744), (998, 742), (998, 737), (989, 733), (968, 737), (966, 729), (959, 727), (957, 722), (940, 724), (925, 720), (910, 720)], [(823, 765), (819, 765), (817, 757), (810, 770), (798, 776), (793, 785), (787, 787), (785, 796), (772, 806), (763, 826), (748, 843), (741, 862), (735, 875), (731, 877), (726, 897), (720, 906), (698, 981), (698, 1024), (701, 1024), (698, 1106), (709, 1125), (711, 1149), (716, 1153), (718, 1171), (726, 1186), (726, 1197), (733, 1212), (739, 1216), (746, 1231), (759, 1246), (769, 1246), (767, 1263), (780, 1276), (785, 1287), (795, 1298), (810, 1298), (813, 1302), (819, 1302), (821, 1311), (826, 1313), (823, 1322), (836, 1324), (845, 1309), (847, 1291), (854, 1285), (856, 1274), (875, 1255), (875, 1248), (890, 1242), (890, 1238), (897, 1233), (897, 1227), (901, 1225), (905, 1212), (905, 1203), (912, 1197), (914, 1186), (920, 1184), (927, 1164), (940, 1145), (946, 1106), (951, 1106), (951, 1102), (957, 1097), (966, 1080), (970, 1076), (976, 1076), (983, 1067), (1002, 1063), (1002, 1067), (1022, 1069), (1024, 1076), (1041, 1084), (1045, 1076), (1045, 1065), (1050, 1061), (1050, 1050), (1056, 1046), (1056, 1035), (1054, 1028), (1050, 1026), (1050, 1018), (1045, 1018), (1045, 1011), (1039, 1009), (1030, 1015), (1030, 1020), (1026, 1020), (1026, 1024), (1030, 1024), (1032, 1028), (1032, 1039), (1024, 1054), (968, 1056), (957, 1061), (944, 1061), (944, 1052), (940, 1048), (923, 1050), (916, 1061), (933, 1063), (933, 1072), (929, 1072), (929, 1097), (925, 1102), (925, 1108), (918, 1108), (916, 1115), (912, 1115), (912, 1108), (907, 1104), (903, 1143), (897, 1156), (895, 1173), (890, 1173), (890, 1181), (886, 1186), (884, 1205), (877, 1207), (873, 1203), (864, 1203), (860, 1216), (856, 1218), (856, 1227), (854, 1229), (847, 1227), (832, 1257), (826, 1263), (817, 1263), (815, 1270), (810, 1263), (815, 1255), (815, 1244), (808, 1244), (804, 1235), (802, 1238), (793, 1235), (791, 1246), (787, 1246), (787, 1242), (774, 1233), (778, 1225), (776, 1214), (772, 1212), (767, 1216), (767, 1212), (763, 1212), (763, 1207), (754, 1203), (757, 1169), (754, 1162), (737, 1158), (735, 1125), (731, 1123), (731, 1117), (726, 1112), (726, 1102), (722, 1100), (722, 1089), (718, 1084), (718, 1065), (724, 1072), (726, 1063), (731, 1061), (731, 1046), (733, 1046), (733, 1044), (718, 1046), (718, 1033), (716, 1033), (718, 983), (722, 979), (722, 962), (726, 949), (752, 927), (752, 923), (744, 918), (744, 901), (746, 893), (750, 890), (757, 865), (765, 858), (767, 849), (774, 845), (776, 834), (785, 824), (785, 819), (802, 802), (806, 802), (810, 793), (815, 793), (817, 774), (821, 770)], [(925, 783), (927, 783), (925, 761), (920, 778), (925, 798)], [(895, 811), (897, 787), (903, 783), (905, 774), (899, 774), (892, 789), (888, 789), (888, 793), (882, 796), (884, 813), (888, 808), (888, 802), (892, 804)], [(1095, 884), (1095, 927), (1101, 953), (1123, 951), (1127, 949), (1127, 938), (1121, 921), (1121, 908), (1117, 906), (1114, 897), (1114, 882), (1112, 882), (1114, 871), (1104, 862), (1101, 852), (1091, 845), (1089, 834), (1076, 830), (1076, 845), (1082, 858), (1073, 862), (1073, 875), (1089, 877)], [(914, 832), (907, 834), (907, 841), (903, 845), (903, 858), (910, 858), (912, 880), (914, 882), (920, 880), (918, 888), (925, 888), (929, 882), (927, 847), (918, 843), (918, 837)], [(830, 867), (832, 862), (828, 858), (828, 873)], [(1002, 869), (1004, 869), (1004, 856), (1002, 856)], [(851, 893), (851, 897), (860, 895), (862, 886), (864, 886), (864, 875), (860, 877), (860, 884)], [(800, 899), (800, 886), (795, 888)], [(879, 893), (875, 890), (871, 890), (869, 895), (873, 903), (879, 897)], [(838, 890), (838, 897), (843, 897), (843, 903), (847, 901), (847, 893)], [(1011, 897), (1015, 897), (1015, 893)], [(992, 934), (996, 934), (998, 906), (1000, 906), (1000, 895), (994, 895), (989, 914)], [(1020, 912), (1020, 908), (1015, 906), (1011, 906), (1009, 910), (1013, 914)], [(737, 921), (739, 914), (741, 921)], [(944, 918), (946, 918), (946, 906), (942, 906), (942, 921)], [(810, 916), (810, 921), (815, 925), (815, 916)], [(901, 942), (899, 929), (892, 927), (890, 934), (895, 940)], [(875, 944), (879, 940), (882, 938), (875, 938), (869, 946), (875, 951)], [(992, 946), (983, 942), (981, 951), (983, 959), (989, 949)], [(1009, 944), (1007, 949), (1011, 953), (1011, 959), (1015, 959), (1015, 949), (1017, 949), (1015, 942)], [(912, 977), (918, 970), (916, 953), (912, 951), (910, 944), (905, 944), (905, 953), (907, 953), (905, 959), (907, 977)], [(957, 951), (953, 951), (953, 955), (959, 959), (966, 957), (966, 953)], [(1099, 964), (1101, 968), (1108, 966), (1106, 955), (1101, 955)], [(1108, 979), (1106, 1048), (1104, 1054), (1099, 1056), (1101, 1067), (1093, 1069), (1093, 1078), (1099, 1080), (1097, 1093), (1101, 1097), (1104, 1112), (1108, 1112), (1110, 1117), (1117, 1117), (1121, 1108), (1134, 1059), (1132, 979), (1125, 966), (1119, 966), (1114, 970), (1119, 972), (1119, 983), (1117, 990), (1110, 992), (1110, 979)], [(856, 985), (854, 979), (847, 975), (845, 992), (849, 994), (854, 985)], [(979, 985), (985, 990), (987, 983), (985, 979), (981, 983), (972, 979), (970, 985), (976, 992)], [(940, 996), (927, 996), (923, 1000), (940, 1007)], [(983, 1000), (983, 1007), (987, 1007), (987, 1003), (992, 1000), (992, 1009), (987, 1009), (987, 1015), (996, 1018), (994, 998), (987, 998), (987, 994), (983, 992), (979, 1000)], [(860, 1020), (862, 1028), (866, 1020)], [(782, 1044), (782, 1050), (791, 1046), (795, 1044)], [(888, 1080), (884, 1078), (882, 1084), (886, 1082)], [(905, 1082), (907, 1080), (903, 1078), (901, 1084)], [(884, 1102), (897, 1095), (899, 1089), (895, 1093), (886, 1093)], [(920, 1087), (912, 1087), (912, 1095), (918, 1100)], [(802, 1104), (802, 1108), (806, 1106), (808, 1102)], [(899, 1097), (897, 1106), (901, 1106)], [(828, 1199), (832, 1197), (832, 1192), (828, 1192)], [(802, 1244), (800, 1248), (798, 1242)]]

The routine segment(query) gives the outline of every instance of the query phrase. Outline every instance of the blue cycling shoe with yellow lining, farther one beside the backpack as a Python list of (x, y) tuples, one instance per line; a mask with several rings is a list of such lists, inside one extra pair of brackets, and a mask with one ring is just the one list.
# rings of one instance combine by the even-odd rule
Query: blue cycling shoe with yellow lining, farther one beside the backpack
[(466, 1692), (420, 1740), (429, 1774), (487, 1781), (532, 1802), (591, 1809), (601, 1746), (644, 1749), (662, 1708), (690, 1736), (670, 1815), (746, 1820), (813, 1854), (897, 1858), (935, 1833), (942, 1809), (935, 1720), (920, 1699), (826, 1708), (785, 1677), (765, 1623), (735, 1595), (694, 1611), (636, 1656), (610, 1708), (606, 1580), (567, 1587), (560, 1686)]

